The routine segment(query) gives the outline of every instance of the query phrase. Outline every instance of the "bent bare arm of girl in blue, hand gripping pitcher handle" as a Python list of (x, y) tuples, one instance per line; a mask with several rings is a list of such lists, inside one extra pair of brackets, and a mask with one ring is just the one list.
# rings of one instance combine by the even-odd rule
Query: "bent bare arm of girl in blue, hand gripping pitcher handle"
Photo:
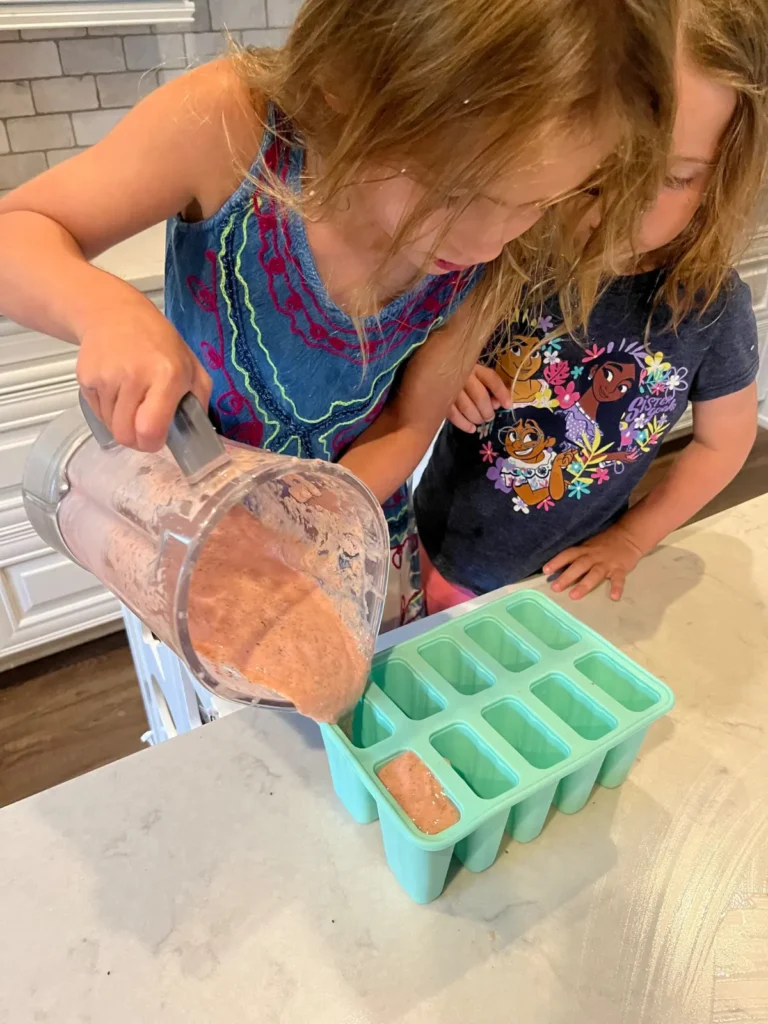
[(254, 125), (248, 90), (219, 61), (0, 201), (0, 311), (81, 346), (80, 383), (121, 443), (161, 446), (179, 398), (207, 404), (210, 381), (145, 296), (88, 260), (179, 211), (215, 212), (258, 151)]

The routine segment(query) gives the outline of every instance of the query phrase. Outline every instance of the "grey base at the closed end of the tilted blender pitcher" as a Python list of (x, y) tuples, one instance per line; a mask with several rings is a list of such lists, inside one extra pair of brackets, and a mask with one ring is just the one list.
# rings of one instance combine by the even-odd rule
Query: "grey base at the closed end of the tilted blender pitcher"
[(70, 486), (69, 461), (90, 436), (80, 407), (68, 409), (39, 434), (22, 475), (22, 496), (30, 522), (47, 545), (66, 555), (70, 552), (58, 528), (58, 503)]

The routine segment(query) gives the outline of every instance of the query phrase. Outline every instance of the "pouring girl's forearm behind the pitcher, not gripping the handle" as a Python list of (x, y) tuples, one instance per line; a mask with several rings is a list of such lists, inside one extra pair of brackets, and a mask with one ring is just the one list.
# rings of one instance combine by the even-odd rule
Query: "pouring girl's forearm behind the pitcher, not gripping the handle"
[(411, 357), (397, 390), (340, 460), (381, 502), (424, 458), (482, 351), (484, 338), (467, 337), (470, 303), (471, 298)]

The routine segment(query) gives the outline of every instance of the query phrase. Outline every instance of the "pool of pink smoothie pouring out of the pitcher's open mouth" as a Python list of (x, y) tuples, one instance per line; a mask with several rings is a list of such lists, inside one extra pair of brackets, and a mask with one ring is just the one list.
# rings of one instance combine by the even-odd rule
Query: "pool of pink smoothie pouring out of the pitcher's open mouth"
[(214, 675), (233, 670), (335, 722), (359, 699), (369, 662), (328, 595), (287, 564), (296, 559), (286, 546), (242, 505), (231, 509), (193, 572), (189, 636)]

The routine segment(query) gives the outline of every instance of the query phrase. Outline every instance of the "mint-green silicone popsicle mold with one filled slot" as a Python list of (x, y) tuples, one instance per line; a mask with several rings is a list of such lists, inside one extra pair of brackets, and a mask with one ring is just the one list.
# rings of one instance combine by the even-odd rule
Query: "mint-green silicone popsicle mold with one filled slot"
[[(454, 854), (472, 871), (496, 860), (505, 831), (539, 835), (550, 807), (580, 811), (595, 782), (627, 777), (672, 691), (537, 591), (499, 598), (378, 655), (366, 693), (323, 725), (339, 799), (360, 823), (380, 819), (387, 862), (406, 892), (442, 892)], [(459, 808), (420, 831), (377, 776), (413, 751)]]

